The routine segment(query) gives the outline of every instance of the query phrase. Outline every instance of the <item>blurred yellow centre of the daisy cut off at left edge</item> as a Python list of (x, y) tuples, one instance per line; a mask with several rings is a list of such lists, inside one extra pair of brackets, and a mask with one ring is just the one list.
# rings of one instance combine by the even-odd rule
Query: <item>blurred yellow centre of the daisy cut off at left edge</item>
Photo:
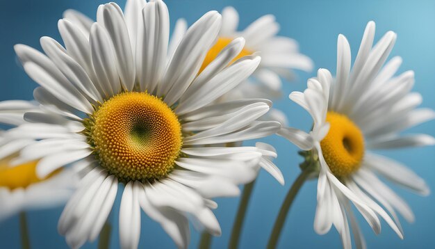
[(31, 184), (42, 182), (56, 175), (59, 170), (51, 173), (45, 178), (36, 175), (36, 165), (38, 161), (23, 163), (19, 166), (9, 166), (9, 160), (0, 163), (0, 187), (6, 187), (10, 190), (16, 188), (27, 188)]

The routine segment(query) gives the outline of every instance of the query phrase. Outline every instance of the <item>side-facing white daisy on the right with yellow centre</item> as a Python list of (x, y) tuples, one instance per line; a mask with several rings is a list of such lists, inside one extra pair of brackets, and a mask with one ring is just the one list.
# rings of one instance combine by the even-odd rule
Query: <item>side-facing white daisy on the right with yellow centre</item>
[(435, 142), (426, 134), (400, 134), (432, 120), (435, 113), (431, 109), (416, 109), (422, 97), (411, 93), (412, 71), (394, 76), (402, 63), (400, 57), (393, 57), (384, 65), (396, 34), (388, 31), (372, 46), (374, 36), (375, 23), (369, 22), (351, 67), (350, 45), (345, 36), (338, 35), (335, 79), (328, 70), (320, 69), (317, 78), (309, 79), (304, 93), (290, 94), (290, 99), (313, 118), (311, 138), (298, 139), (290, 128), (283, 128), (279, 133), (289, 140), (299, 140), (304, 150), (312, 147), (305, 154), (304, 165), (308, 166), (306, 170), (318, 170), (314, 229), (318, 234), (325, 234), (334, 225), (344, 248), (352, 245), (350, 227), (356, 247), (366, 247), (350, 203), (375, 233), (381, 230), (378, 216), (401, 239), (403, 231), (397, 213), (409, 222), (414, 220), (408, 204), (378, 175), (420, 195), (429, 194), (425, 181), (414, 172), (373, 152)]

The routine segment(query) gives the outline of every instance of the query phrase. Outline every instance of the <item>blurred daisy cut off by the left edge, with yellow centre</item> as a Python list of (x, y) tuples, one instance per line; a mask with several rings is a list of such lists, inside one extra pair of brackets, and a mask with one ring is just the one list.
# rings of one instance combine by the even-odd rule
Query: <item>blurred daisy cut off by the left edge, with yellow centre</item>
[[(26, 111), (38, 111), (38, 106), (25, 101), (0, 103), (0, 119), (8, 124), (24, 124)], [(13, 162), (17, 152), (34, 143), (32, 139), (12, 140), (8, 131), (0, 133), (0, 220), (29, 209), (47, 209), (65, 204), (79, 182), (76, 170), (56, 170), (38, 177), (38, 161)]]

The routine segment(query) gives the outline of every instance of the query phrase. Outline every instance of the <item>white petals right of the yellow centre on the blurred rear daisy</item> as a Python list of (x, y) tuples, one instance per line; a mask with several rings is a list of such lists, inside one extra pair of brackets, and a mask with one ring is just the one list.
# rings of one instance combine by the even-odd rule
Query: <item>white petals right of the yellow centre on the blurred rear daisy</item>
[(243, 31), (238, 31), (238, 22), (237, 10), (231, 6), (224, 8), (220, 39), (242, 36), (246, 40), (245, 54), (261, 55), (261, 63), (249, 79), (250, 82), (240, 85), (238, 91), (231, 93), (234, 97), (276, 99), (281, 95), (280, 77), (292, 81), (295, 78), (293, 70), (309, 72), (313, 69), (311, 59), (299, 53), (297, 41), (277, 35), (280, 26), (274, 15), (263, 15)]

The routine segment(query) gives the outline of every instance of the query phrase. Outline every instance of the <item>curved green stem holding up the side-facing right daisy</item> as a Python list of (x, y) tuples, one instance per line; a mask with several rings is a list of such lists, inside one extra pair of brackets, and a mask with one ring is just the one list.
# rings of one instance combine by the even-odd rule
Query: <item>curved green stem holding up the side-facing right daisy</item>
[(277, 243), (279, 240), (279, 236), (281, 235), (282, 227), (284, 226), (284, 223), (286, 222), (286, 217), (288, 214), (288, 210), (291, 207), (291, 204), (293, 203), (293, 200), (295, 200), (295, 197), (297, 193), (299, 192), (299, 189), (302, 187), (306, 179), (311, 174), (311, 170), (302, 170), (302, 172), (299, 174), (293, 185), (291, 186), (290, 190), (288, 191), (286, 195), (286, 199), (284, 200), (281, 209), (279, 210), (279, 214), (277, 216), (277, 220), (275, 220), (275, 224), (272, 230), (272, 234), (269, 238), (268, 243), (268, 249), (273, 249), (277, 247)]

